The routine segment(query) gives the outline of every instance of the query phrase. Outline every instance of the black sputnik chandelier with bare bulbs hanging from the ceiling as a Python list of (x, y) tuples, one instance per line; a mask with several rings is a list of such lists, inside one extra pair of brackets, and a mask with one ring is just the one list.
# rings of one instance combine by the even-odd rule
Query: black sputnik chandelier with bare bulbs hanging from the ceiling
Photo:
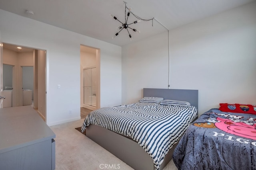
[[(126, 30), (128, 31), (128, 34), (129, 34), (129, 37), (130, 37), (130, 41), (132, 41), (132, 40), (133, 40), (133, 39), (132, 39), (132, 35), (130, 34), (128, 28), (131, 29), (131, 30), (134, 31), (134, 32), (137, 32), (137, 33), (140, 33), (140, 31), (137, 30), (137, 29), (131, 28), (129, 25), (131, 25), (131, 24), (133, 24), (133, 23), (138, 23), (138, 22), (140, 22), (140, 20), (142, 20), (142, 21), (150, 21), (150, 20), (152, 20), (152, 26), (153, 26), (153, 19), (154, 19), (154, 18), (149, 19), (149, 20), (144, 20), (144, 19), (142, 19), (142, 18), (136, 16), (135, 14), (133, 14), (133, 13), (131, 12), (131, 8), (127, 8), (127, 6), (126, 6), (127, 2), (124, 2), (124, 4), (125, 4), (125, 9), (124, 9), (124, 23), (122, 23), (120, 20), (118, 20), (118, 19), (117, 19), (115, 16), (113, 16), (112, 14), (110, 14), (110, 16), (111, 16), (112, 18), (114, 18), (115, 20), (118, 20), (120, 23), (122, 23), (122, 25), (121, 25), (120, 27), (118, 27), (118, 30), (120, 30), (120, 31), (118, 31), (118, 32), (114, 35), (114, 37), (116, 37), (123, 29), (126, 29)], [(128, 10), (127, 18), (126, 18), (126, 9)], [(130, 14), (132, 14), (135, 18), (137, 18), (137, 19), (139, 19), (139, 20), (138, 20), (138, 21), (134, 21), (134, 22), (132, 22), (132, 23), (127, 23), (128, 17), (130, 16)], [(114, 37), (112, 37), (112, 39), (114, 39)]]

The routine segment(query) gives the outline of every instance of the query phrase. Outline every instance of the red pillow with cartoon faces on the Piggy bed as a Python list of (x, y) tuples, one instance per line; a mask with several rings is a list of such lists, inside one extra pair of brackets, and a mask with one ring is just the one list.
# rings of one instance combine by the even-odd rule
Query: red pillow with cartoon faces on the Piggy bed
[(220, 111), (232, 113), (249, 113), (256, 115), (256, 105), (220, 103)]

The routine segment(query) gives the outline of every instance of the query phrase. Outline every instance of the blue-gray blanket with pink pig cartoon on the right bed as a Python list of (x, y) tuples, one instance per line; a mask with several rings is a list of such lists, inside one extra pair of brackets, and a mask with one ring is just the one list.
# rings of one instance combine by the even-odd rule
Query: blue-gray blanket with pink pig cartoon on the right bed
[(210, 109), (173, 153), (179, 170), (256, 170), (256, 115)]

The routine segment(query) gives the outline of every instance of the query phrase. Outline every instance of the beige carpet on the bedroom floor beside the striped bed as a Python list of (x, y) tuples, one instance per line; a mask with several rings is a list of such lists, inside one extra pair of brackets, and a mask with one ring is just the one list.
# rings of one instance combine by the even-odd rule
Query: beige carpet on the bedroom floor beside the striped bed
[[(116, 165), (120, 170), (133, 170), (77, 131), (75, 128), (82, 126), (83, 121), (84, 119), (81, 119), (50, 127), (56, 134), (56, 170), (104, 170), (102, 164), (110, 164), (113, 165), (112, 167)], [(177, 168), (171, 160), (164, 170), (177, 170)]]

